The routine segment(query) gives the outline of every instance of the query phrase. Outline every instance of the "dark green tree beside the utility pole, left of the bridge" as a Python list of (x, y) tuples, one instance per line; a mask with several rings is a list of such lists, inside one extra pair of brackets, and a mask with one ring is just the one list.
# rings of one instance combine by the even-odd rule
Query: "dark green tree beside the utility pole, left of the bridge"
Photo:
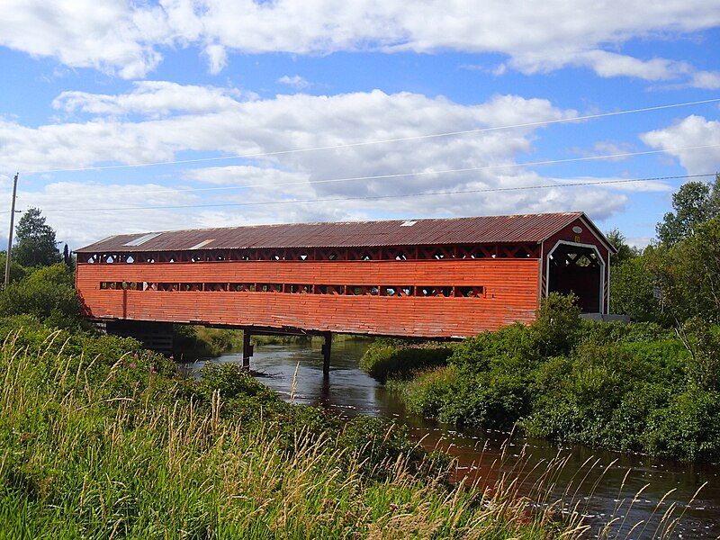
[(25, 211), (15, 228), (15, 238), (13, 257), (20, 265), (49, 266), (61, 260), (55, 229), (45, 222), (38, 208)]

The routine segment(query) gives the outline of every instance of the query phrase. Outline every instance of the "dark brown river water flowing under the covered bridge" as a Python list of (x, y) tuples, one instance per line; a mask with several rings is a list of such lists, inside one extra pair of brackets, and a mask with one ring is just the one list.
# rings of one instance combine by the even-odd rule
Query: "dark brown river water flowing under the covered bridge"
[[(294, 380), (296, 403), (320, 405), (348, 416), (386, 417), (407, 425), (410, 436), (428, 450), (439, 448), (457, 458), (457, 480), (466, 477), (466, 481), (483, 486), (494, 484), (502, 474), (518, 477), (520, 491), (533, 500), (563, 500), (565, 509), (577, 509), (585, 515), (594, 526), (589, 537), (597, 536), (598, 527), (614, 519), (611, 537), (660, 536), (657, 531), (663, 530), (662, 516), (674, 508), (670, 521), (681, 514), (682, 518), (671, 537), (720, 538), (719, 464), (682, 464), (444, 426), (407, 413), (392, 392), (361, 371), (358, 363), (365, 347), (367, 342), (362, 340), (334, 343), (328, 383), (323, 382), (319, 342), (256, 346), (250, 365), (262, 373), (258, 375), (262, 383), (286, 400), (293, 392)], [(211, 360), (241, 361), (239, 354)], [(199, 369), (202, 365), (201, 361), (190, 367)], [(554, 464), (552, 475), (545, 473), (548, 463)]]

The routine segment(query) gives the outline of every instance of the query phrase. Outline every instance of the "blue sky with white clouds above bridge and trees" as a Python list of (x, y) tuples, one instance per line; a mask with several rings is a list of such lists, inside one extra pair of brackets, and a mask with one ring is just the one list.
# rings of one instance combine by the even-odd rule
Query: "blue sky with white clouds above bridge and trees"
[(643, 247), (689, 180), (616, 181), (720, 170), (720, 0), (0, 4), (0, 238), (19, 172), (71, 248), (542, 211)]

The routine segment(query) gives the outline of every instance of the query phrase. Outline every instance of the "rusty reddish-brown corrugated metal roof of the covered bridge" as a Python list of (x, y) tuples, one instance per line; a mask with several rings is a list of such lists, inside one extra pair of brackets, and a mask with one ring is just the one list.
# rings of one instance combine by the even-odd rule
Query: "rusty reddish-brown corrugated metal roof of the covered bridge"
[[(287, 223), (227, 229), (170, 230), (117, 235), (76, 251), (91, 253), (183, 251), (200, 245), (202, 249), (233, 249), (539, 242), (581, 216), (584, 214), (576, 211), (441, 220)], [(587, 217), (585, 219), (587, 220)], [(151, 237), (150, 235), (153, 234), (157, 236)], [(148, 239), (140, 246), (131, 246), (134, 241), (144, 237)]]

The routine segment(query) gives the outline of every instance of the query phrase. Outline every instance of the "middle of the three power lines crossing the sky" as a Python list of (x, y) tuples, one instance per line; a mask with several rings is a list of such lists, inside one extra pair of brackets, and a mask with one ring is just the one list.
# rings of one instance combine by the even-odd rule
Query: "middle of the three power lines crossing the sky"
[[(545, 159), (542, 161), (528, 161), (524, 163), (509, 163), (505, 165), (488, 165), (488, 166), (471, 166), (471, 167), (463, 167), (463, 168), (455, 168), (455, 169), (440, 169), (440, 170), (425, 170), (425, 171), (416, 171), (416, 172), (410, 172), (410, 173), (393, 173), (388, 175), (369, 175), (369, 176), (347, 176), (342, 178), (326, 178), (326, 179), (320, 179), (320, 180), (303, 180), (301, 182), (281, 182), (277, 184), (241, 184), (241, 185), (224, 185), (219, 187), (188, 187), (188, 188), (179, 188), (179, 189), (172, 189), (172, 188), (166, 188), (166, 189), (158, 189), (158, 190), (143, 190), (138, 193), (128, 193), (127, 190), (122, 191), (109, 191), (109, 192), (103, 192), (104, 195), (131, 195), (131, 194), (137, 194), (137, 195), (146, 195), (148, 193), (196, 193), (196, 192), (211, 192), (211, 191), (228, 191), (228, 190), (234, 190), (234, 189), (250, 189), (250, 188), (268, 188), (268, 187), (283, 187), (288, 185), (306, 185), (306, 184), (335, 184), (335, 183), (341, 183), (341, 182), (354, 182), (359, 180), (383, 180), (388, 178), (404, 178), (409, 176), (420, 176), (420, 175), (446, 175), (446, 174), (452, 174), (452, 173), (469, 173), (469, 172), (479, 172), (479, 171), (488, 171), (488, 170), (494, 170), (494, 169), (503, 169), (503, 168), (518, 168), (522, 166), (545, 166), (545, 165), (556, 165), (561, 163), (573, 163), (573, 162), (581, 162), (581, 161), (592, 161), (592, 160), (599, 160), (599, 159), (613, 159), (613, 158), (620, 158), (620, 157), (635, 157), (635, 156), (647, 156), (647, 155), (653, 155), (653, 154), (662, 154), (665, 152), (681, 152), (681, 151), (687, 151), (687, 150), (698, 150), (698, 149), (705, 149), (705, 148), (720, 148), (720, 144), (707, 144), (702, 146), (696, 146), (696, 147), (681, 147), (681, 148), (663, 148), (660, 150), (644, 150), (640, 152), (625, 152), (621, 154), (606, 154), (603, 156), (584, 156), (584, 157), (567, 157), (563, 159)], [(684, 177), (684, 176), (683, 176)], [(130, 187), (130, 186), (128, 186)], [(77, 193), (77, 192), (76, 192)], [(78, 194), (82, 194), (81, 192)]]

